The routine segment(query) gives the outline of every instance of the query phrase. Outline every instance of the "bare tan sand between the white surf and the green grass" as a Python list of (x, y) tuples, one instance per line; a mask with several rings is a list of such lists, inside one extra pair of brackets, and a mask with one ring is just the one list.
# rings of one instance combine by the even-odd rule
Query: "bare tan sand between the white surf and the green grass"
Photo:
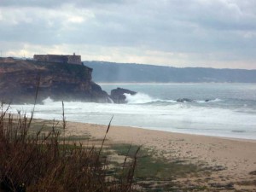
[[(106, 130), (107, 125), (68, 122), (66, 134), (89, 135), (94, 139), (102, 139)], [(177, 179), (177, 182), (186, 181), (189, 184), (205, 185), (215, 183), (217, 188), (231, 183), (238, 191), (256, 190), (256, 175), (252, 173), (256, 171), (256, 141), (254, 140), (195, 136), (123, 126), (111, 126), (107, 139), (108, 143), (142, 145), (143, 148), (153, 150), (155, 158), (185, 160), (212, 167), (214, 170), (207, 177), (184, 177)]]

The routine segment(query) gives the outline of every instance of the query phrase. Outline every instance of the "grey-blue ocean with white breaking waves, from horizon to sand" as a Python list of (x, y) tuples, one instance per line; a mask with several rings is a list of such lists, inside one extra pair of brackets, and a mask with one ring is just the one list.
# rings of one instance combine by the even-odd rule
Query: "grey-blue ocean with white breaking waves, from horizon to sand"
[[(68, 121), (126, 125), (215, 137), (256, 139), (256, 84), (101, 84), (108, 93), (117, 87), (137, 91), (126, 104), (64, 102)], [(177, 102), (188, 98), (192, 102)], [(10, 111), (30, 113), (32, 105)], [(61, 102), (44, 100), (34, 117), (61, 119)]]

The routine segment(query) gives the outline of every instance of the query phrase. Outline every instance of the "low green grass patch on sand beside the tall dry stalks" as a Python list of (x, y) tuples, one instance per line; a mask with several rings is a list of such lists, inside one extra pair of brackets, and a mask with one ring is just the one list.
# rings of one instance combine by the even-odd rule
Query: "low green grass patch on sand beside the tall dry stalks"
[[(127, 144), (113, 144), (111, 148), (119, 155), (126, 155), (129, 149)], [(131, 146), (129, 157), (133, 157), (138, 146)], [(180, 160), (164, 160), (154, 157), (154, 151), (148, 152), (147, 148), (141, 148), (137, 155), (137, 170), (135, 177), (139, 180), (172, 181), (177, 177), (201, 172), (202, 169), (194, 164), (184, 163)]]

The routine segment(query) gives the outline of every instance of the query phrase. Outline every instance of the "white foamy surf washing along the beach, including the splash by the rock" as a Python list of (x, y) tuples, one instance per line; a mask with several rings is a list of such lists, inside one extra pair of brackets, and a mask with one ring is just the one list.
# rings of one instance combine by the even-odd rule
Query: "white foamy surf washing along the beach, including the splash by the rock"
[[(189, 102), (155, 105), (156, 100), (143, 94), (131, 96), (128, 101), (130, 104), (65, 102), (65, 114), (67, 120), (83, 123), (108, 125), (109, 119), (114, 115), (113, 125), (256, 139), (255, 113), (243, 113), (224, 108), (204, 108), (191, 105)], [(61, 102), (54, 102), (47, 98), (43, 103), (36, 105), (35, 118), (61, 120)], [(13, 105), (11, 110), (14, 113), (17, 110), (29, 113), (32, 105)]]

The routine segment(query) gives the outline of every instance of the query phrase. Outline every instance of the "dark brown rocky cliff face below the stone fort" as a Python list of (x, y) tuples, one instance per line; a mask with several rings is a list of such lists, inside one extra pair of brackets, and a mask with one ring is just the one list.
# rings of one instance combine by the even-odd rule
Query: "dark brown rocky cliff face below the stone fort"
[(48, 96), (55, 101), (108, 102), (91, 73), (82, 65), (0, 58), (0, 101), (33, 102), (40, 78), (38, 102)]

